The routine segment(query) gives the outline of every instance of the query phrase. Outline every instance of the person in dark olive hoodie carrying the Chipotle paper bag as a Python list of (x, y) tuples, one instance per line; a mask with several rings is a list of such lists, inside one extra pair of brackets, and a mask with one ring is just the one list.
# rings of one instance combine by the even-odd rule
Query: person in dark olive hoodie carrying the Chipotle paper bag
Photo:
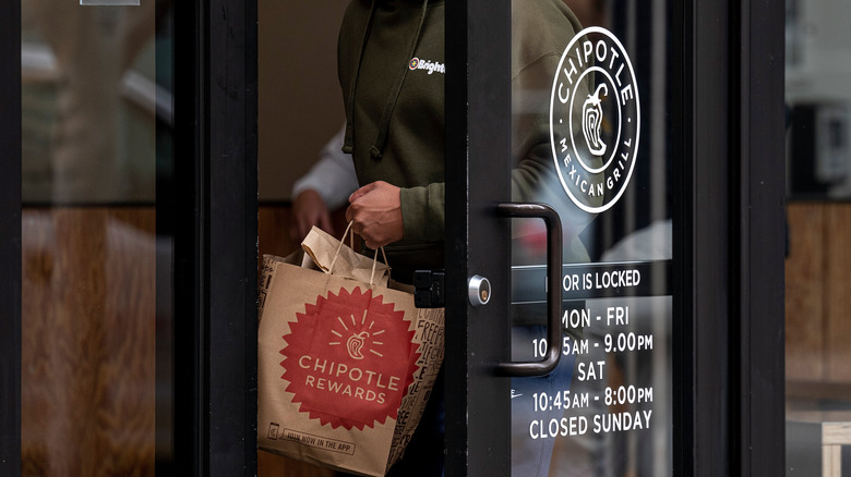
[[(594, 217), (572, 207), (561, 187), (548, 117), (562, 52), (582, 27), (561, 0), (513, 0), (512, 17), (512, 94), (518, 111), (512, 137), (512, 199), (553, 205), (565, 227), (565, 258), (587, 261), (578, 234)], [(410, 283), (417, 269), (444, 268), (444, 1), (349, 3), (339, 34), (338, 74), (346, 106), (344, 151), (351, 154), (361, 186), (349, 197), (346, 218), (367, 247), (385, 248), (394, 279), (400, 282)], [(585, 83), (576, 87), (589, 94)], [(543, 335), (542, 316), (516, 321), (513, 328), (523, 340)], [(562, 359), (550, 376), (526, 379), (563, 390), (572, 371), (573, 363)], [(529, 382), (513, 380), (512, 387), (524, 383)], [(513, 419), (529, 418), (529, 400), (531, 394), (512, 400)], [(441, 404), (432, 399), (429, 406)], [(513, 473), (547, 475), (552, 440), (523, 439), (528, 437), (526, 423), (525, 428), (513, 426), (520, 436), (512, 445)], [(417, 433), (433, 436), (434, 429), (442, 430), (440, 419), (421, 421)], [(391, 474), (441, 475), (442, 460), (442, 438), (418, 441), (415, 435)]]

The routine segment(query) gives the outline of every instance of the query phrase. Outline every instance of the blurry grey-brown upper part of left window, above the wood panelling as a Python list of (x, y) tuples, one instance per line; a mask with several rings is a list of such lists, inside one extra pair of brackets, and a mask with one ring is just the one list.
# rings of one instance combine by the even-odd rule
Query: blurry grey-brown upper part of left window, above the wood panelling
[(22, 7), (24, 200), (153, 200), (154, 2)]

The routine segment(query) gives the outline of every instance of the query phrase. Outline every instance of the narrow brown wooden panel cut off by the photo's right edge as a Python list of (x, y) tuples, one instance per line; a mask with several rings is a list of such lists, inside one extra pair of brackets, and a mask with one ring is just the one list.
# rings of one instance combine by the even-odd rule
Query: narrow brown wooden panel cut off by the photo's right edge
[(851, 382), (851, 205), (825, 205), (825, 217), (827, 379)]

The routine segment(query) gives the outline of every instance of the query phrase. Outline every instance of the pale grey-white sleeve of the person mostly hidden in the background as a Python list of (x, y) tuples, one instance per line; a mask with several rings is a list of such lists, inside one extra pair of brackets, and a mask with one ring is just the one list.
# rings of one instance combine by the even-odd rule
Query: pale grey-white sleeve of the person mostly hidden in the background
[(295, 199), (302, 191), (313, 189), (319, 193), (328, 209), (341, 207), (349, 195), (358, 188), (358, 178), (351, 155), (343, 152), (343, 138), (346, 126), (325, 144), (320, 154), (320, 160), (313, 164), (310, 172), (296, 181), (292, 186)]

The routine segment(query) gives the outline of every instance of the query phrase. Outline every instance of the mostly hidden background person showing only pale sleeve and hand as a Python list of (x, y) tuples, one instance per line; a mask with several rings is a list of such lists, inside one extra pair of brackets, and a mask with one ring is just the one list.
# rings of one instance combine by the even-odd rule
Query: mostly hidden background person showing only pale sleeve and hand
[(313, 225), (334, 235), (331, 211), (348, 204), (358, 188), (351, 156), (343, 152), (345, 133), (344, 125), (322, 148), (319, 161), (292, 185), (289, 237), (293, 244), (304, 240)]

